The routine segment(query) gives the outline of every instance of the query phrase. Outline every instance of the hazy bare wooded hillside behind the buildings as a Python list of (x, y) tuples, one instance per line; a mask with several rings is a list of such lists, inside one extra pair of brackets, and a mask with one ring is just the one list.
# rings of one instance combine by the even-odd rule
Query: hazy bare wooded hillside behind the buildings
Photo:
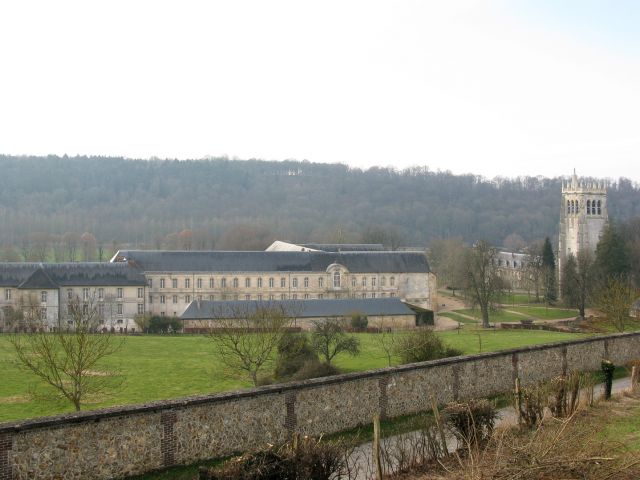
[[(0, 172), (0, 259), (40, 261), (105, 259), (124, 246), (262, 249), (276, 238), (530, 243), (557, 237), (562, 182), (228, 158), (0, 155)], [(640, 185), (609, 182), (610, 217), (639, 216)]]

